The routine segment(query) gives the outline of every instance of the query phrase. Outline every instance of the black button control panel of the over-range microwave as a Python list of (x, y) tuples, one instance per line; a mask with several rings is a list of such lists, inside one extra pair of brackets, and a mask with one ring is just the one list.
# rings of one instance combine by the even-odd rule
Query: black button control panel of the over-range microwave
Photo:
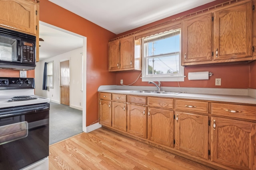
[(33, 63), (34, 62), (34, 44), (23, 42), (22, 48), (23, 48), (22, 61), (26, 63)]

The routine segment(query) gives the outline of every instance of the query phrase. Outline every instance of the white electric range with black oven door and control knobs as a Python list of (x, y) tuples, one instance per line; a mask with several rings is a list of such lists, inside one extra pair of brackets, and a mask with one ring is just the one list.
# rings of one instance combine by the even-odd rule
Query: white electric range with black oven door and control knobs
[(34, 78), (0, 77), (0, 169), (48, 170), (50, 100)]

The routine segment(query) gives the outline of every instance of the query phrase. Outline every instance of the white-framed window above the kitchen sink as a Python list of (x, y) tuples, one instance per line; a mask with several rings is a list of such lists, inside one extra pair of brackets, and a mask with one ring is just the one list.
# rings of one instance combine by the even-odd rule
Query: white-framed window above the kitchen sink
[(184, 81), (180, 61), (180, 29), (142, 39), (142, 81)]

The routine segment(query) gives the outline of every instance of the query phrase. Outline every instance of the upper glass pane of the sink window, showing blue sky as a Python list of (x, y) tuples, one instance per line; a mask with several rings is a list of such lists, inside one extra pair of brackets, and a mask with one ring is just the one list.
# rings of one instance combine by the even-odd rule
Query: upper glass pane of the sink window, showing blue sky
[(180, 34), (148, 42), (148, 55), (161, 55), (180, 51)]

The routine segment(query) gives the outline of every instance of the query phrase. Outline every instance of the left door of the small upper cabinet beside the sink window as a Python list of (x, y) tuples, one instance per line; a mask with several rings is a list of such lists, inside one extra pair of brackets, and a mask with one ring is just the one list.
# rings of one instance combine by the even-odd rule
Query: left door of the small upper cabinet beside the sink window
[(120, 41), (112, 41), (109, 43), (109, 56), (108, 64), (109, 70), (119, 70), (120, 69)]

